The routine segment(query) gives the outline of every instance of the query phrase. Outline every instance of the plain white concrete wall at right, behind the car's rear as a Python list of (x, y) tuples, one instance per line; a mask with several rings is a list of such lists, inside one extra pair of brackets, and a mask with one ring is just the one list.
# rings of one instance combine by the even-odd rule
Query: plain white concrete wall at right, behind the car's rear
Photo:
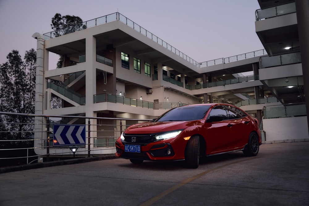
[(266, 142), (309, 140), (307, 116), (263, 119), (263, 128), (266, 132)]

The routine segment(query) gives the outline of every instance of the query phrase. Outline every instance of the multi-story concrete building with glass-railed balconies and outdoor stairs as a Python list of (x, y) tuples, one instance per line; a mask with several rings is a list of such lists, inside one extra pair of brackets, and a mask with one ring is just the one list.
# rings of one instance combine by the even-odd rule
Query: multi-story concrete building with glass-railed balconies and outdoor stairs
[[(282, 122), (263, 119), (269, 106), (286, 111), (283, 105), (305, 99), (295, 2), (259, 3), (256, 33), (265, 49), (201, 63), (118, 12), (84, 22), (86, 29), (35, 33), (36, 113), (152, 119), (183, 104), (224, 102), (255, 116), (269, 140), (308, 138), (304, 105), (280, 118), (302, 127), (296, 129), (301, 137), (289, 136), (295, 130), (274, 137)], [(49, 68), (50, 52), (63, 57), (62, 68)], [(53, 97), (61, 99), (60, 108), (52, 107)], [(110, 122), (91, 121), (94, 135)]]

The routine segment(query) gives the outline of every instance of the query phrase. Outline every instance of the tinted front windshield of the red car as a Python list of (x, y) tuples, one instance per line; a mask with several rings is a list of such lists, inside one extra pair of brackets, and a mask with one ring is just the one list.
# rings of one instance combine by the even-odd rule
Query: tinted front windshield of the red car
[(210, 106), (184, 106), (171, 109), (167, 113), (159, 117), (156, 122), (168, 122), (168, 121), (191, 121), (203, 119)]

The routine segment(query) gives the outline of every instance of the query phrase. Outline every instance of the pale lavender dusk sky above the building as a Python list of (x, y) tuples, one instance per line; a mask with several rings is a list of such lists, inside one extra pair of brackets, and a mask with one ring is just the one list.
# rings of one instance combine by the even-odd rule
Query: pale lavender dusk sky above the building
[[(119, 12), (197, 62), (263, 49), (257, 0), (0, 0), (0, 64), (13, 49), (36, 50), (35, 32), (56, 13), (88, 21)], [(51, 68), (50, 68), (51, 69)]]

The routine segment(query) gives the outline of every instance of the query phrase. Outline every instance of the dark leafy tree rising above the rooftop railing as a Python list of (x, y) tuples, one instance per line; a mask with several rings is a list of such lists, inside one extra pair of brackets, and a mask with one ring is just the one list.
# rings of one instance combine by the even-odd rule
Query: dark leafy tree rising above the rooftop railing
[(61, 16), (59, 13), (56, 13), (52, 18), (50, 26), (55, 30), (54, 35), (56, 37), (86, 29), (86, 25), (83, 24), (83, 20), (80, 17), (74, 15)]

